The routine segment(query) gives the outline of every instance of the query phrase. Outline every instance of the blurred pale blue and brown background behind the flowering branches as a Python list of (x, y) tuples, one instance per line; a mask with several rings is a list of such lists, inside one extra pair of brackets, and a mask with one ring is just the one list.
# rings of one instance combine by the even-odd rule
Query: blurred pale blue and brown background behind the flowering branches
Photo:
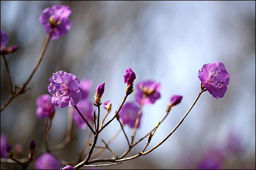
[[(198, 70), (204, 64), (221, 61), (230, 75), (224, 98), (216, 100), (204, 92), (182, 125), (159, 148), (100, 169), (205, 169), (215, 165), (222, 169), (255, 169), (255, 1), (1, 1), (1, 29), (9, 38), (6, 46), (19, 45), (15, 53), (6, 56), (14, 85), (21, 87), (31, 74), (47, 39), (39, 16), (55, 4), (70, 6), (71, 29), (49, 43), (28, 84), (31, 90), (1, 112), (1, 134), (12, 146), (23, 145), (20, 158), (27, 157), (31, 139), (37, 151), (45, 149), (46, 120), (35, 115), (35, 101), (49, 93), (49, 79), (56, 71), (71, 72), (80, 80), (91, 79), (91, 101), (96, 86), (105, 82), (101, 101), (112, 102), (109, 118), (124, 98), (126, 68), (133, 68), (135, 86), (147, 79), (160, 82), (161, 98), (143, 108), (136, 139), (163, 118), (170, 96), (183, 95), (182, 102), (172, 108), (156, 131), (150, 149), (173, 130), (195, 101), (200, 92)], [(127, 101), (134, 101), (135, 93)], [(1, 106), (9, 96), (1, 57)], [(55, 109), (50, 145), (66, 137), (68, 108)], [(113, 121), (97, 145), (103, 146), (101, 139), (108, 141), (119, 127)], [(132, 136), (133, 130), (124, 128)], [(78, 158), (89, 129), (80, 130), (74, 125), (74, 133), (71, 143), (54, 153), (65, 161)], [(128, 156), (142, 151), (146, 142), (140, 142)], [(116, 156), (126, 151), (123, 133), (109, 147)], [(109, 151), (99, 156), (111, 157)], [(6, 168), (20, 166), (1, 163), (1, 169)], [(34, 169), (34, 164), (28, 169)]]

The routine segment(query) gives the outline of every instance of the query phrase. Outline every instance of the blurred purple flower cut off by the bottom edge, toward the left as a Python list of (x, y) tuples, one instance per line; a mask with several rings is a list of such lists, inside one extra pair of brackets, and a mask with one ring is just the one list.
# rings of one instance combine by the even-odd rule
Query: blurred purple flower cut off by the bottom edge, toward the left
[(44, 153), (35, 160), (36, 169), (59, 169), (60, 162), (51, 154)]

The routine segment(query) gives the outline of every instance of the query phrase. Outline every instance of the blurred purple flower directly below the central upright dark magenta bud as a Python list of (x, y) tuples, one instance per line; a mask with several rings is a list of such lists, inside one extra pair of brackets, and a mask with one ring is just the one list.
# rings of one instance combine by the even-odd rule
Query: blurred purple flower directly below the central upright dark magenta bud
[[(135, 126), (135, 122), (138, 117), (139, 109), (140, 109), (139, 106), (135, 102), (125, 103), (119, 112), (119, 117), (122, 119), (122, 123), (127, 124), (131, 128), (133, 128)], [(138, 128), (139, 127), (140, 127), (140, 119), (138, 123)]]

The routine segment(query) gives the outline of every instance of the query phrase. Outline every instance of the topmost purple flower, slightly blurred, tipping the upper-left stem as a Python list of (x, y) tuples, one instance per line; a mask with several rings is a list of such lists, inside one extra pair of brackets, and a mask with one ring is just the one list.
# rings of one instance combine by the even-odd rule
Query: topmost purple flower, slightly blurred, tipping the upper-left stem
[(44, 27), (47, 35), (52, 28), (54, 31), (51, 40), (58, 39), (59, 36), (67, 34), (71, 28), (71, 20), (68, 18), (71, 10), (67, 5), (54, 5), (42, 11), (39, 21)]

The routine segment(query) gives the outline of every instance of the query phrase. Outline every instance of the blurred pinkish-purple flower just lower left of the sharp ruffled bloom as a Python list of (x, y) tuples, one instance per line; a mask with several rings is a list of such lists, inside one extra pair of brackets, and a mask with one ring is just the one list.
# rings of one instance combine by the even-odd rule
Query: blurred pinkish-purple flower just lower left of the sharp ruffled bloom
[(37, 109), (35, 114), (39, 118), (46, 118), (54, 113), (54, 105), (52, 104), (52, 96), (50, 94), (40, 95), (36, 100)]

